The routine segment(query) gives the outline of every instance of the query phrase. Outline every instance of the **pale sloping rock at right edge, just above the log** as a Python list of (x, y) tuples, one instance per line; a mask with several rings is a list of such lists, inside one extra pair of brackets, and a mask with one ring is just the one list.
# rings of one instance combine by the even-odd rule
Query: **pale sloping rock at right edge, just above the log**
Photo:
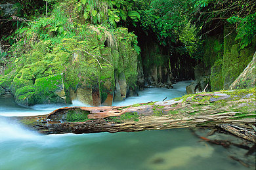
[(234, 80), (230, 85), (230, 90), (242, 89), (242, 88), (254, 88), (255, 87), (255, 74), (256, 74), (256, 52), (254, 53), (253, 59), (244, 69), (244, 71)]

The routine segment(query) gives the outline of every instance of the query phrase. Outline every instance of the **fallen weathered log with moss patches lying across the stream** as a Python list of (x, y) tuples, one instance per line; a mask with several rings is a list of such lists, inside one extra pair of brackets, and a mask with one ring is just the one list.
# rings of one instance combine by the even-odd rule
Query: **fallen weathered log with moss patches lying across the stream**
[[(64, 107), (48, 115), (16, 119), (41, 133), (51, 134), (255, 124), (255, 116), (255, 88), (251, 88), (184, 95), (127, 107)], [(255, 131), (253, 134), (255, 137)]]

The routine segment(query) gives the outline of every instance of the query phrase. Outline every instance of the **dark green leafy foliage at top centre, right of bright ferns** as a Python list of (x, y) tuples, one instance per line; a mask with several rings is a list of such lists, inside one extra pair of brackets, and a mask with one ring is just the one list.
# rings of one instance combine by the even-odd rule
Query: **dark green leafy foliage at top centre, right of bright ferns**
[(151, 1), (150, 8), (142, 12), (141, 23), (144, 29), (150, 29), (158, 36), (158, 40), (166, 45), (167, 41), (175, 42), (184, 27), (184, 16), (181, 12), (184, 3), (168, 0)]

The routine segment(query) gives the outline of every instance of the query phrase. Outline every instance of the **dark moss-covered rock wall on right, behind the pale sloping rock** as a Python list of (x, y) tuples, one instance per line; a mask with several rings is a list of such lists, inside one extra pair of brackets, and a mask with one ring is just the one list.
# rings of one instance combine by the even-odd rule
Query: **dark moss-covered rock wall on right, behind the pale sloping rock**
[(205, 40), (203, 65), (200, 67), (209, 68), (209, 71), (206, 71), (203, 76), (209, 76), (211, 91), (227, 90), (253, 58), (256, 37), (249, 46), (240, 49), (240, 42), (236, 41), (234, 27), (230, 24), (223, 24), (219, 30), (213, 31)]

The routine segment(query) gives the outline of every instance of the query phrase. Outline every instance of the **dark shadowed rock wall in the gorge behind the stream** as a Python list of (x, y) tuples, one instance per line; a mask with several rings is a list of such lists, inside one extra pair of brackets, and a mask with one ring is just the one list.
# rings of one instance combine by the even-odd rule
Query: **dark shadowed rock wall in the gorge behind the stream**
[(160, 45), (159, 42), (148, 36), (140, 37), (139, 41), (141, 48), (139, 62), (143, 71), (139, 69), (138, 82), (140, 88), (144, 86), (172, 88), (172, 83), (176, 80), (188, 80), (194, 77), (192, 69), (194, 59), (186, 55), (182, 56), (175, 50)]

